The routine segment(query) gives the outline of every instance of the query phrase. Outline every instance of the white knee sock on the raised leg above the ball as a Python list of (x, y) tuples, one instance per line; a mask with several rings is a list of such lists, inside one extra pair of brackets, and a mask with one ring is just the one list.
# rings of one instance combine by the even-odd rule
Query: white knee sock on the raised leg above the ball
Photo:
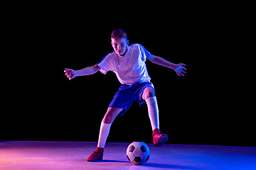
[(157, 106), (156, 96), (146, 98), (146, 104), (149, 111), (149, 119), (151, 122), (152, 130), (159, 129), (159, 109)]

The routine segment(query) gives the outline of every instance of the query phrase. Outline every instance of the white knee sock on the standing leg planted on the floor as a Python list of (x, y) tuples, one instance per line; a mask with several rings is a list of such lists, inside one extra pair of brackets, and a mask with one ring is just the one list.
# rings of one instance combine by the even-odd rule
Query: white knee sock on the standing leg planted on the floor
[(99, 135), (99, 140), (98, 140), (97, 147), (101, 147), (101, 148), (105, 147), (107, 136), (110, 133), (110, 126), (111, 125), (112, 125), (112, 123), (104, 123), (102, 121), (102, 123), (100, 125), (100, 135)]

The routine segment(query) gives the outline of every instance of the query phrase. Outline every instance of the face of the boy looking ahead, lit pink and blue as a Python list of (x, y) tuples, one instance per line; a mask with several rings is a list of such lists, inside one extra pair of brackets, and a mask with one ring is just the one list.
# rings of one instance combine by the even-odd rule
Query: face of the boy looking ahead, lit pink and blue
[(127, 52), (129, 40), (127, 38), (111, 38), (111, 44), (117, 55), (124, 56)]

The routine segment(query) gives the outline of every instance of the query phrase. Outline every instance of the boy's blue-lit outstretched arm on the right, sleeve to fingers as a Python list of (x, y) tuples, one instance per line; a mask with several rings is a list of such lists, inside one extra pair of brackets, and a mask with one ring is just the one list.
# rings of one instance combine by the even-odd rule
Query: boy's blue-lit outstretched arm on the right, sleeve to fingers
[(186, 73), (185, 70), (186, 68), (183, 66), (186, 66), (186, 64), (174, 64), (171, 62), (168, 62), (167, 60), (164, 60), (161, 57), (158, 57), (156, 55), (149, 55), (146, 59), (148, 59), (149, 61), (153, 62), (154, 64), (159, 64), (161, 66), (164, 67), (168, 67), (170, 69), (174, 69), (174, 71), (176, 72), (176, 74), (178, 74), (178, 76), (184, 76), (184, 74)]

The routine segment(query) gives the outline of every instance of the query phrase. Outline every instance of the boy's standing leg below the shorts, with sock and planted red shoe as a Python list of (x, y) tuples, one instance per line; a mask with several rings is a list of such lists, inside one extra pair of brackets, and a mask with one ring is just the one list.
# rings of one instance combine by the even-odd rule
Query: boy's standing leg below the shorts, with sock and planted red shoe
[(112, 122), (114, 121), (114, 118), (117, 117), (117, 115), (122, 111), (122, 108), (108, 108), (107, 113), (105, 114), (104, 118), (102, 119), (102, 123), (100, 125), (100, 135), (99, 140), (97, 144), (97, 148), (95, 152), (93, 152), (90, 157), (88, 157), (88, 162), (95, 162), (97, 160), (102, 160), (103, 158), (103, 152), (105, 143), (107, 140), (107, 136), (110, 132), (110, 126), (112, 125)]

